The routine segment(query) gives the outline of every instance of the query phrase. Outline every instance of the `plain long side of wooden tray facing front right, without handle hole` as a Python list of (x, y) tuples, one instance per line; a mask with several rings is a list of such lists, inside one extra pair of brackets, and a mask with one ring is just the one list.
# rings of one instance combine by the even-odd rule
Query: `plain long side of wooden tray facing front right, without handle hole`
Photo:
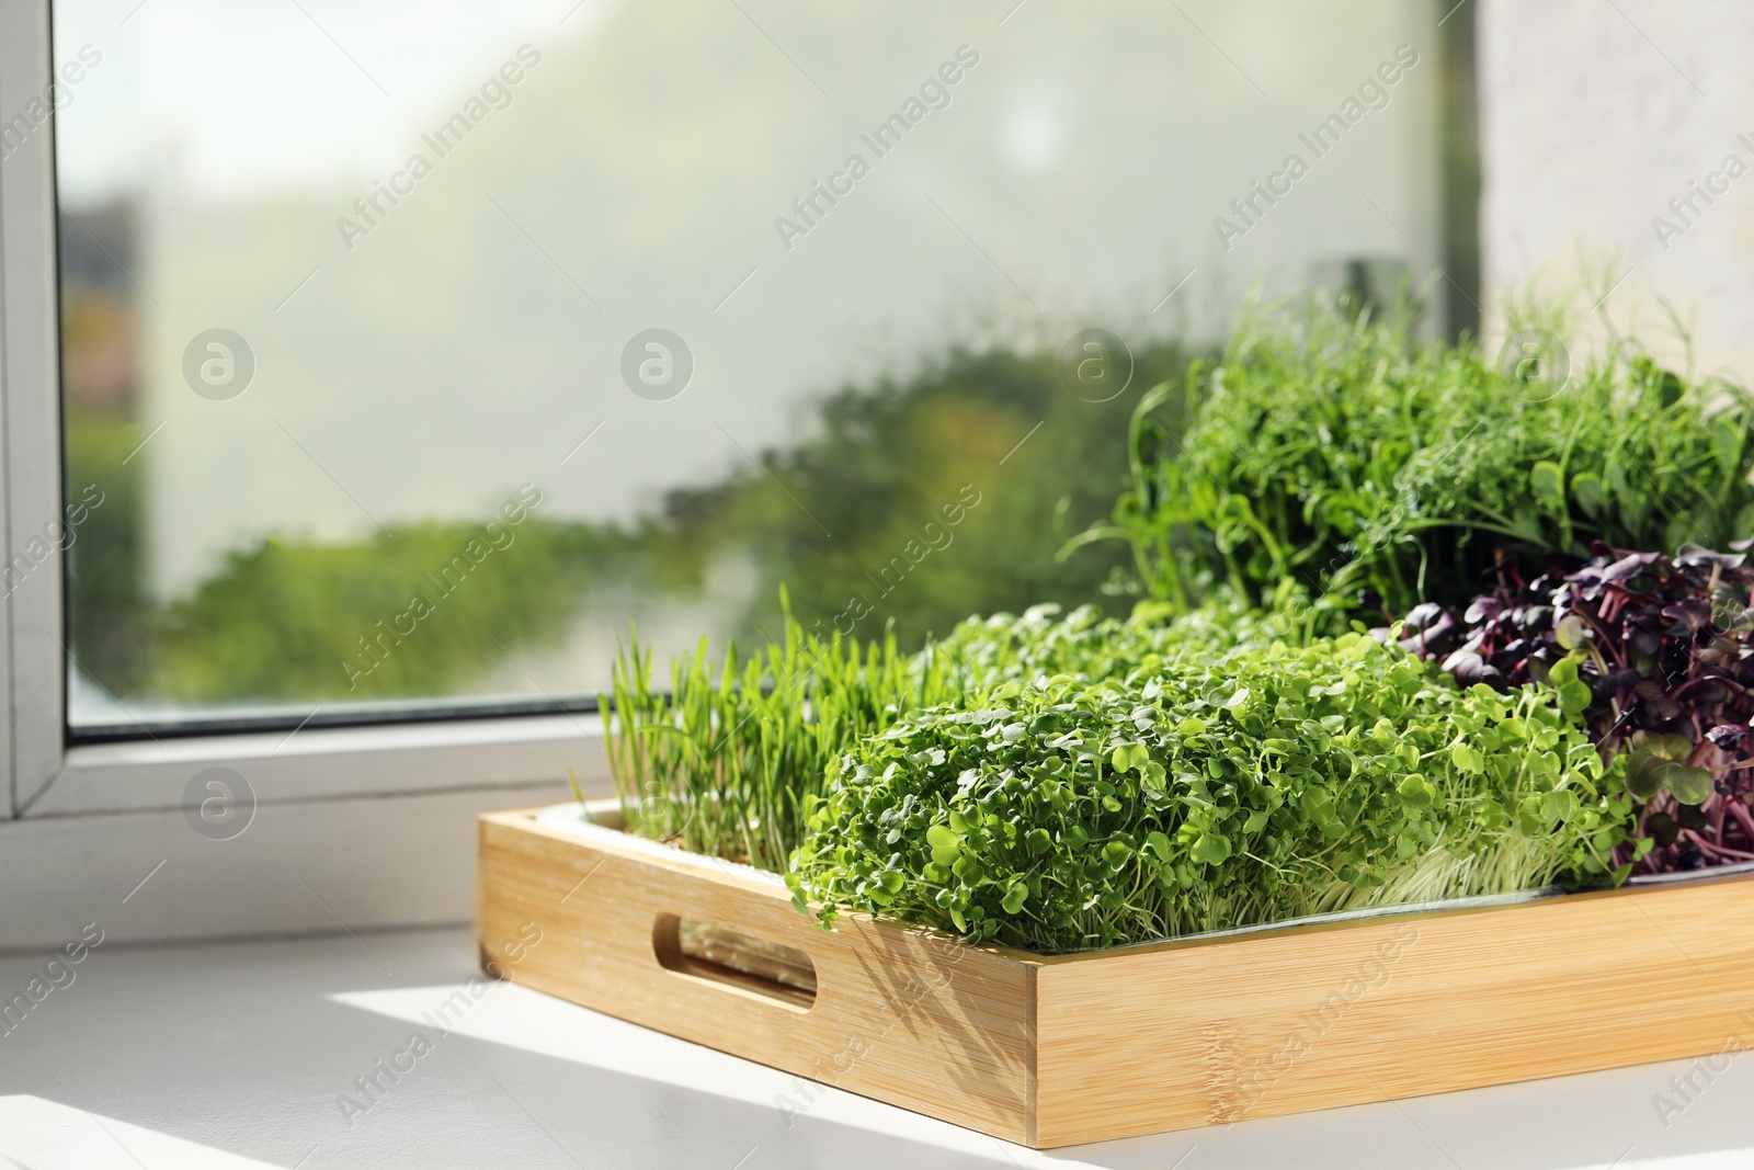
[(1754, 879), (1049, 960), (1038, 1144), (1754, 1045)]

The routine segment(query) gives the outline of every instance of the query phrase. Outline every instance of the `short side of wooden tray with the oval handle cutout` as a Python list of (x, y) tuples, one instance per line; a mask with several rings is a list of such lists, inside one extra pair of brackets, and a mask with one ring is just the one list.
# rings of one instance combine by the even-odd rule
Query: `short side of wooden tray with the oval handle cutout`
[[(735, 926), (810, 956), (814, 1005), (667, 970), (660, 916)], [(528, 938), (540, 931), (540, 942)], [(1033, 1142), (1035, 967), (928, 935), (842, 921), (828, 933), (774, 884), (654, 860), (545, 828), (528, 812), (481, 819), (482, 958), (523, 958), (537, 991), (807, 1081)], [(523, 944), (523, 945), (521, 945)], [(505, 967), (502, 960), (498, 963)], [(775, 1100), (803, 1112), (821, 1089)]]

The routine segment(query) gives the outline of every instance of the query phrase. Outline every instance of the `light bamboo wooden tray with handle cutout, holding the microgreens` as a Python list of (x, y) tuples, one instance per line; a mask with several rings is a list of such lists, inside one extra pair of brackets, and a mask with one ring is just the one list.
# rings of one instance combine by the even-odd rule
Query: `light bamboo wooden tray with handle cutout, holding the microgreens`
[(1042, 958), (828, 933), (770, 875), (537, 814), (481, 817), (484, 961), (796, 1074), (789, 1110), (821, 1082), (1054, 1147), (1754, 1044), (1754, 875)]

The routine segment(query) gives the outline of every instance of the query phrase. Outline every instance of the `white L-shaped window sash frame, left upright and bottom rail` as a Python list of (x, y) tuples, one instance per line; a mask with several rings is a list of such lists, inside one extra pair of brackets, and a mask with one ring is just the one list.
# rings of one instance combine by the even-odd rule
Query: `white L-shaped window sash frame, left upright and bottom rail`
[[(49, 0), (0, 2), (0, 119), (46, 95), (53, 75)], [(63, 505), (53, 132), (51, 114), (0, 161), (0, 551), (7, 561)], [(586, 791), (607, 789), (603, 724), (595, 714), (68, 746), (63, 596), (56, 553), (5, 598), (0, 830), (54, 821), (65, 835), (68, 817), (156, 812), (142, 821), (147, 837), (168, 838), (179, 824), (188, 833), (184, 789), (209, 767), (239, 772), (258, 807), (456, 793), (482, 793), (482, 807), (509, 807), (535, 803), (531, 793), (565, 791), (568, 772)], [(7, 875), (28, 870), (32, 840), (42, 838), (0, 831), (0, 898), (12, 893)], [(417, 865), (417, 847), (402, 849), (396, 863)], [(163, 930), (181, 933), (175, 924)], [(0, 951), (11, 942), (18, 938), (0, 937)]]

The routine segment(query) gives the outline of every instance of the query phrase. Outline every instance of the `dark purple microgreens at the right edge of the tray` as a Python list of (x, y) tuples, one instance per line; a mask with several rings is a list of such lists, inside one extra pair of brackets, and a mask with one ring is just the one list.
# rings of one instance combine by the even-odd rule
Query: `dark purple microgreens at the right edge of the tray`
[(1554, 688), (1607, 756), (1626, 758), (1638, 831), (1621, 858), (1642, 874), (1693, 870), (1754, 860), (1750, 595), (1738, 553), (1598, 546), (1528, 579), (1505, 563), (1459, 621), (1417, 607), (1401, 644), (1463, 682)]

